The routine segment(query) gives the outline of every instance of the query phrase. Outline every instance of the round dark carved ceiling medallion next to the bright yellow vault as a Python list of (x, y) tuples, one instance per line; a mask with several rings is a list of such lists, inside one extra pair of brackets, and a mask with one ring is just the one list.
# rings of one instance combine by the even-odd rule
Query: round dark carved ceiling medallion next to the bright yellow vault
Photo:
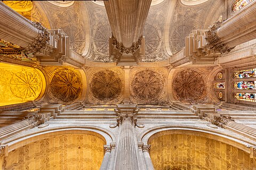
[(51, 81), (52, 94), (63, 102), (77, 99), (82, 92), (82, 79), (79, 72), (71, 69), (60, 69)]

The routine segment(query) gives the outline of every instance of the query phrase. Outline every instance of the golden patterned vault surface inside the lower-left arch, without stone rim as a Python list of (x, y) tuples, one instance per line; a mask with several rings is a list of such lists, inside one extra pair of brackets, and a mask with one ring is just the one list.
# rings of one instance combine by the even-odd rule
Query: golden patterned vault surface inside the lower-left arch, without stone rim
[(98, 134), (65, 134), (31, 142), (9, 152), (3, 169), (100, 169), (103, 145)]

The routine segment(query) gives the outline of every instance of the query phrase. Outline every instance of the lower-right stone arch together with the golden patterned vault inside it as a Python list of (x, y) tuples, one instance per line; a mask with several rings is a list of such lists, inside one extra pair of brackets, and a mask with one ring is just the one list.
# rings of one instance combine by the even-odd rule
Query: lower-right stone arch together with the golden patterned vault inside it
[(231, 169), (255, 166), (251, 148), (254, 142), (247, 143), (243, 137), (228, 132), (192, 125), (157, 126), (142, 132), (139, 138), (151, 145), (149, 152), (155, 169), (224, 169), (220, 166), (229, 163)]

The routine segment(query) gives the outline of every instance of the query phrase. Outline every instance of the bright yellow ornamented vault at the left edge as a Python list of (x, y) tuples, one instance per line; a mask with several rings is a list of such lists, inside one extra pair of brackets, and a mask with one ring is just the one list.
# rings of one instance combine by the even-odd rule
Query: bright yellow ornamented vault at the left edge
[(0, 63), (0, 106), (25, 103), (43, 96), (45, 78), (26, 66)]

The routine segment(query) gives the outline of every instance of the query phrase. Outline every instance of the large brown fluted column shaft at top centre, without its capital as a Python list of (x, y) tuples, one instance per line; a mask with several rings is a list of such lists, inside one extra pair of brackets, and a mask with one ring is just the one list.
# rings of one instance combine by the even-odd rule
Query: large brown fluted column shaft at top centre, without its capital
[(119, 43), (129, 48), (142, 36), (151, 0), (104, 1), (108, 20)]

